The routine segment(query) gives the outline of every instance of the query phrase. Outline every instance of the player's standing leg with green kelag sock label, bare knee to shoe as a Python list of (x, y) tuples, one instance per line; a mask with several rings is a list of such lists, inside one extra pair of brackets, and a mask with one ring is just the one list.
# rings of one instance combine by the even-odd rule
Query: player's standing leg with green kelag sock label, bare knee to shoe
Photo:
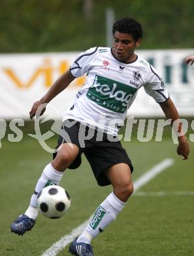
[(90, 254), (87, 255), (92, 256), (91, 240), (116, 219), (116, 216), (123, 207), (125, 207), (125, 203), (133, 193), (133, 183), (131, 181), (129, 165), (126, 163), (118, 163), (108, 168), (105, 174), (113, 186), (113, 192), (99, 205), (88, 226), (78, 239), (74, 240), (71, 244), (69, 249), (71, 253), (78, 253), (76, 248), (79, 248), (81, 245), (89, 245), (87, 249)]

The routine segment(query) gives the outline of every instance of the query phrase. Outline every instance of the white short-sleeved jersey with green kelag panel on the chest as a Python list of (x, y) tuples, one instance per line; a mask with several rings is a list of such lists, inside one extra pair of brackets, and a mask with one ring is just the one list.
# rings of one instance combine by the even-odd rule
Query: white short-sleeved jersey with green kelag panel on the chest
[(87, 79), (63, 121), (76, 119), (111, 135), (117, 135), (140, 87), (158, 103), (169, 98), (157, 70), (146, 60), (137, 56), (132, 63), (120, 62), (108, 47), (79, 54), (70, 71), (74, 77), (87, 74)]

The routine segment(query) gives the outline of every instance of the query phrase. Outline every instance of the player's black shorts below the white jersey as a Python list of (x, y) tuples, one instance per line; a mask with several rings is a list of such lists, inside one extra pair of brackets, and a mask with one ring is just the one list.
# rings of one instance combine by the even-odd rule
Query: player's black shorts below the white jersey
[[(74, 122), (74, 125), (72, 125), (72, 122)], [(71, 125), (69, 125), (70, 123)], [(82, 138), (86, 138), (87, 136), (89, 138), (82, 141)], [(91, 165), (98, 184), (100, 186), (106, 186), (110, 184), (104, 173), (108, 167), (117, 163), (127, 163), (131, 169), (131, 173), (133, 172), (133, 165), (125, 149), (122, 147), (120, 141), (115, 140), (118, 140), (118, 137), (99, 132), (97, 129), (91, 129), (91, 127), (83, 125), (79, 121), (69, 119), (63, 122), (61, 135), (57, 141), (56, 148), (66, 142), (76, 144), (79, 148), (79, 154), (73, 163), (71, 163), (69, 169), (76, 169), (80, 166), (82, 163), (81, 154), (84, 153)], [(56, 155), (57, 152), (53, 154), (53, 158)]]

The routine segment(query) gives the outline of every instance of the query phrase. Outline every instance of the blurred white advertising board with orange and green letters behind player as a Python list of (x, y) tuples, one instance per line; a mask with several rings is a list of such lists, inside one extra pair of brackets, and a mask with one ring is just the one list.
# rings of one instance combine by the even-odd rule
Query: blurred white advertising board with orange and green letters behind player
[[(137, 51), (155, 68), (165, 81), (170, 96), (181, 116), (194, 115), (194, 64), (184, 64), (184, 58), (194, 49)], [(29, 119), (33, 102), (39, 100), (59, 75), (71, 65), (78, 53), (0, 54), (0, 118)], [(52, 100), (49, 112), (62, 116), (71, 107), (85, 77), (75, 79)], [(129, 111), (130, 116), (163, 116), (154, 100), (144, 89)]]

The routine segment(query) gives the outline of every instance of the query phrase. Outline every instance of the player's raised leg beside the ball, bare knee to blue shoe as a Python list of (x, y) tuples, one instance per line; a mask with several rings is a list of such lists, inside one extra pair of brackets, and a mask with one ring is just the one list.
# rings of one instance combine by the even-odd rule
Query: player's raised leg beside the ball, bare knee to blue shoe
[(16, 221), (14, 221), (10, 228), (11, 231), (23, 235), (26, 231), (31, 230), (35, 224), (35, 220), (38, 216), (37, 209), (37, 197), (45, 186), (51, 184), (59, 184), (63, 177), (63, 172), (78, 156), (78, 146), (74, 144), (64, 143), (61, 145), (60, 150), (57, 152), (56, 158), (44, 168), (40, 179), (35, 187), (35, 192), (31, 196), (30, 205), (25, 211), (25, 214), (20, 215)]

